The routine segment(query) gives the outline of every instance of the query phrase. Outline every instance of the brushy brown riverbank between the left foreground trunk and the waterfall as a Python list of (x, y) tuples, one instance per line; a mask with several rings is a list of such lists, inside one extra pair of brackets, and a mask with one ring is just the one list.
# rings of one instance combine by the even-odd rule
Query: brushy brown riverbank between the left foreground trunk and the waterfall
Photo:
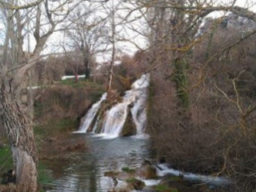
[[(80, 118), (101, 97), (104, 88), (94, 82), (68, 79), (46, 88), (34, 90), (34, 135), (38, 146), (38, 183), (40, 191), (56, 178), (56, 162), (68, 163), (70, 156), (86, 151), (84, 139), (70, 138), (77, 130)], [(10, 146), (5, 136), (0, 143), (0, 182), (2, 174), (13, 169)], [(52, 166), (54, 165), (54, 166)], [(10, 189), (6, 189), (10, 187)], [(0, 186), (11, 191), (14, 186)]]

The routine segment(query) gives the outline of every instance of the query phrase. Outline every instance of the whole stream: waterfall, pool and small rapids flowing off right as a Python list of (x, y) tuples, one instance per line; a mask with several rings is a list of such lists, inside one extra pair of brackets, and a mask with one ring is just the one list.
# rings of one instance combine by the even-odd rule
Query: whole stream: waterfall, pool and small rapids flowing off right
[[(149, 74), (143, 74), (126, 90), (122, 101), (115, 103), (103, 115), (98, 113), (106, 94), (88, 110), (82, 118), (81, 125), (71, 137), (86, 141), (86, 153), (75, 154), (68, 163), (58, 162), (54, 170), (55, 180), (47, 192), (105, 192), (114, 188), (112, 178), (105, 177), (107, 171), (122, 170), (123, 167), (137, 168), (146, 158), (152, 158), (149, 139), (145, 137), (146, 101), (148, 96)], [(132, 137), (122, 136), (122, 130), (131, 114), (136, 134)], [(102, 125), (98, 122), (102, 118)], [(63, 166), (62, 166), (63, 164)], [(210, 186), (228, 186), (230, 180), (206, 175), (191, 174), (171, 169), (168, 165), (156, 165), (160, 177), (166, 174), (182, 175), (191, 182), (202, 182)], [(56, 173), (57, 172), (57, 173)], [(144, 181), (144, 180), (143, 180)], [(155, 185), (160, 180), (144, 181), (147, 186)]]

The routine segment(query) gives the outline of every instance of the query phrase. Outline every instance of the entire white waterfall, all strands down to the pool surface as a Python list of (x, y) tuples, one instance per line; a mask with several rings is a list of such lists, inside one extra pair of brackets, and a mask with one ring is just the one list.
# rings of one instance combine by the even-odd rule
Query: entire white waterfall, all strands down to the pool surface
[[(135, 81), (131, 90), (127, 90), (122, 97), (122, 102), (114, 105), (110, 110), (106, 110), (103, 116), (102, 129), (97, 129), (99, 117), (95, 122), (92, 132), (101, 130), (98, 134), (108, 134), (111, 137), (118, 137), (122, 133), (122, 128), (126, 122), (129, 110), (132, 114), (134, 124), (136, 126), (137, 134), (143, 134), (146, 127), (146, 99), (148, 96), (148, 86), (150, 82), (149, 74), (143, 74), (141, 78)], [(78, 130), (78, 133), (86, 133), (97, 114), (101, 103), (106, 99), (102, 96), (99, 102), (95, 103), (87, 112), (83, 125)], [(132, 106), (132, 107), (130, 107)], [(94, 109), (93, 109), (94, 108)]]

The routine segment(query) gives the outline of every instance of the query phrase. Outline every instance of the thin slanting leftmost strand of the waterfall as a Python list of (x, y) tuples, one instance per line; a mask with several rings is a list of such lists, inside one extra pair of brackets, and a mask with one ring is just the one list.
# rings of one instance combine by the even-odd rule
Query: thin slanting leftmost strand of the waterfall
[(98, 113), (98, 110), (101, 107), (101, 104), (103, 101), (106, 100), (106, 93), (102, 94), (102, 98), (94, 103), (93, 106), (91, 106), (90, 110), (86, 113), (86, 115), (82, 118), (82, 123), (78, 131), (75, 131), (74, 133), (86, 133), (87, 130), (90, 128), (91, 123), (94, 121), (94, 118), (96, 114)]

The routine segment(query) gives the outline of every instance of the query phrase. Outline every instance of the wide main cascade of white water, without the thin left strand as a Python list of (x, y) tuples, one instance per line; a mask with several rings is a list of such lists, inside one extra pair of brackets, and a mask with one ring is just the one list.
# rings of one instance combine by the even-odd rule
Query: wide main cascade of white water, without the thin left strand
[(141, 78), (132, 84), (132, 89), (126, 91), (122, 102), (116, 104), (106, 112), (102, 134), (110, 134), (114, 137), (121, 134), (130, 104), (134, 105), (131, 108), (131, 114), (137, 128), (137, 134), (143, 133), (144, 127), (146, 126), (146, 98), (149, 82), (149, 74), (143, 74)]

